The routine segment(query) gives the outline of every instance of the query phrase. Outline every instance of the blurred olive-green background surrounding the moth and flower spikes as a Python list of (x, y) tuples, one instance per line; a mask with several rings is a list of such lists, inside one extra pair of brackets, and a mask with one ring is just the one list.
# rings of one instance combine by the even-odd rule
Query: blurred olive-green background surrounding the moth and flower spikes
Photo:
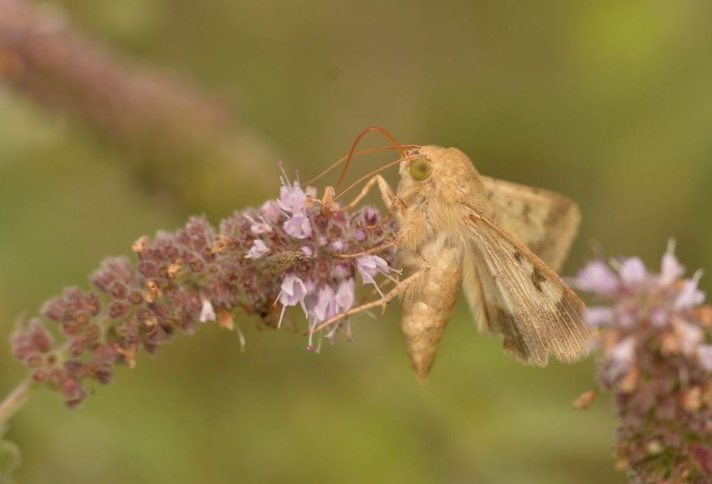
[[(577, 200), (584, 223), (567, 274), (600, 251), (656, 266), (671, 236), (689, 268), (712, 268), (709, 1), (58, 6), (112, 50), (228, 99), (288, 169), (315, 174), (381, 125), (401, 143), (456, 146), (484, 174)], [(227, 215), (142, 183), (134, 157), (0, 91), (1, 335), (63, 286), (86, 286), (101, 258), (129, 253), (142, 233)], [(353, 176), (388, 160), (359, 159)], [(221, 200), (237, 209), (274, 197), (276, 164), (263, 176), (271, 189), (246, 180)], [(397, 307), (361, 317), (354, 342), (319, 356), (245, 317), (245, 354), (207, 326), (119, 369), (75, 411), (39, 391), (9, 432), (23, 449), (19, 482), (624, 481), (609, 400), (570, 409), (594, 386), (592, 361), (520, 366), (476, 334), (460, 301), (423, 386), (397, 317)], [(4, 394), (25, 373), (3, 347)]]

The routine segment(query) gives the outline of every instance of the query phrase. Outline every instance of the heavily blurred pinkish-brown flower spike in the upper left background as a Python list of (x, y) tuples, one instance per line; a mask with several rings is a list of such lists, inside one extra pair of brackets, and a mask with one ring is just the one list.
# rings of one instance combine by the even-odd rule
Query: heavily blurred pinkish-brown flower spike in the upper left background
[(272, 185), (263, 166), (275, 150), (224, 102), (119, 58), (46, 5), (0, 0), (0, 81), (88, 122), (128, 150), (152, 189), (202, 210), (235, 209), (240, 187)]

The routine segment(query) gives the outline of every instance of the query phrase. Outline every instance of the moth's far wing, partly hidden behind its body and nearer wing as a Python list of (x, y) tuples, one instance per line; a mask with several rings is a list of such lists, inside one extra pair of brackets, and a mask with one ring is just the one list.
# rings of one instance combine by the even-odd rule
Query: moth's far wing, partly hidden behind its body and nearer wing
[(581, 214), (576, 204), (553, 191), (481, 177), (493, 220), (553, 270), (560, 270), (576, 237)]

